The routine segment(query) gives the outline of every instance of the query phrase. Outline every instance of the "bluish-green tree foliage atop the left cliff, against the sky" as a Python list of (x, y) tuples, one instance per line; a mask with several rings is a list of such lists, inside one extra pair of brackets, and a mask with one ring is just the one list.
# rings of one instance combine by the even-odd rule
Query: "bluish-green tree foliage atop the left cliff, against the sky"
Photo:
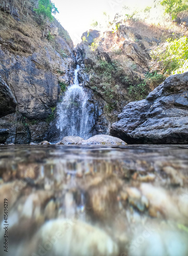
[(58, 9), (56, 8), (55, 4), (50, 3), (49, 0), (39, 0), (39, 6), (37, 9), (34, 9), (39, 15), (44, 16), (44, 20), (49, 18), (50, 22), (53, 20), (53, 14), (59, 13)]

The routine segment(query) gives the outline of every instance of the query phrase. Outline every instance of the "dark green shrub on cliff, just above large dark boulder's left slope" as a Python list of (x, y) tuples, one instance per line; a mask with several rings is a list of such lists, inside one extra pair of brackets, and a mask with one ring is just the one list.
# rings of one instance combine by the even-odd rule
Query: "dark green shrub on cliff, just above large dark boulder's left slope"
[(147, 92), (147, 84), (145, 81), (136, 84), (135, 86), (128, 87), (128, 94), (131, 96), (133, 100), (141, 100), (144, 99), (148, 92)]

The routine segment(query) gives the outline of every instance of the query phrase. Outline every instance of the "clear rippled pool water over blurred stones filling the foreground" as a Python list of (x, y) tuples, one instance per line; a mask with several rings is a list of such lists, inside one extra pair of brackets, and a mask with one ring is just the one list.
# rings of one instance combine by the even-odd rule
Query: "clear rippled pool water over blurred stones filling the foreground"
[(1, 146), (0, 174), (1, 255), (188, 255), (186, 145)]

